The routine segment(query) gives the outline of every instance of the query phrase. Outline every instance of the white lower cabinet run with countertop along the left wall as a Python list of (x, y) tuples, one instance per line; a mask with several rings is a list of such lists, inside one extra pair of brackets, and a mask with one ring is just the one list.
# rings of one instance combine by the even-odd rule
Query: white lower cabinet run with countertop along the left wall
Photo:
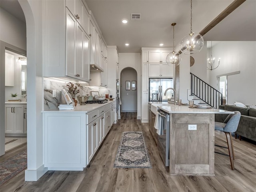
[(77, 105), (74, 110), (46, 110), (44, 167), (48, 170), (83, 170), (114, 122), (115, 102)]

